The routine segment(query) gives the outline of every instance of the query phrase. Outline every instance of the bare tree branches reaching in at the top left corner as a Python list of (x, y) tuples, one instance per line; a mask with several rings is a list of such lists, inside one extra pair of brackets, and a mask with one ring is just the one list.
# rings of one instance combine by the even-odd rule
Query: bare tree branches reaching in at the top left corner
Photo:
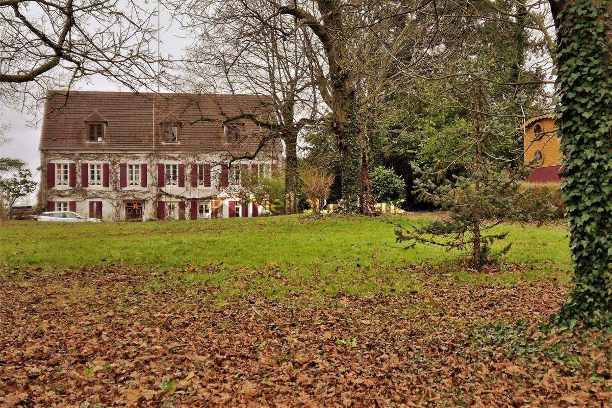
[(96, 74), (150, 89), (154, 13), (131, 1), (0, 0), (2, 102)]

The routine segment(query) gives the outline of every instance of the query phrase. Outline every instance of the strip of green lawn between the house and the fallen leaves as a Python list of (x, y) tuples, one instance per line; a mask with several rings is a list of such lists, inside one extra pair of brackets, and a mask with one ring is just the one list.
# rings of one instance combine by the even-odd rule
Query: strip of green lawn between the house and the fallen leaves
[[(261, 217), (149, 223), (4, 223), (4, 270), (122, 264), (145, 273), (170, 272), (181, 282), (207, 281), (220, 297), (248, 291), (280, 296), (418, 290), (416, 275), (442, 271), (460, 283), (515, 284), (541, 278), (566, 281), (570, 256), (564, 226), (499, 226), (509, 230), (506, 269), (474, 275), (453, 267), (456, 253), (419, 245), (404, 250), (394, 226), (421, 217)], [(516, 264), (521, 264), (517, 269)], [(517, 272), (518, 271), (518, 272)], [(168, 280), (168, 273), (164, 274)], [(247, 276), (248, 285), (233, 279)], [(159, 280), (157, 281), (159, 284)]]

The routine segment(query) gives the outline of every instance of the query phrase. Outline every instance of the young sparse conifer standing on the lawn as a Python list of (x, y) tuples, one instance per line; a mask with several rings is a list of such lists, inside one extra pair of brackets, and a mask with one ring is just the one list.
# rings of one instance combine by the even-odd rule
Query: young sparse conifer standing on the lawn
[[(527, 199), (527, 193), (519, 191), (526, 168), (522, 152), (516, 149), (515, 138), (520, 137), (516, 121), (503, 114), (508, 111), (504, 89), (473, 77), (459, 80), (450, 89), (440, 103), (468, 109), (474, 119), (464, 122), (465, 137), (458, 139), (458, 146), (442, 163), (446, 166), (419, 170), (421, 177), (416, 180), (420, 199), (446, 211), (448, 217), (408, 228), (398, 225), (395, 234), (408, 248), (427, 243), (465, 251), (467, 263), (480, 272), (510, 248), (491, 250), (493, 242), (507, 235), (496, 228), (499, 224), (540, 221), (553, 207), (543, 200)], [(447, 177), (450, 168), (461, 171)]]

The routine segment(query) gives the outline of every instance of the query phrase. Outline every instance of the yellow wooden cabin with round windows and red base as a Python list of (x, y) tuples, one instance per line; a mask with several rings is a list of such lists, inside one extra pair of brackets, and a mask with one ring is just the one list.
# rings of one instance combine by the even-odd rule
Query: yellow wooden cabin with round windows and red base
[(559, 182), (562, 154), (552, 114), (531, 117), (523, 125), (524, 160), (532, 171), (528, 182)]

